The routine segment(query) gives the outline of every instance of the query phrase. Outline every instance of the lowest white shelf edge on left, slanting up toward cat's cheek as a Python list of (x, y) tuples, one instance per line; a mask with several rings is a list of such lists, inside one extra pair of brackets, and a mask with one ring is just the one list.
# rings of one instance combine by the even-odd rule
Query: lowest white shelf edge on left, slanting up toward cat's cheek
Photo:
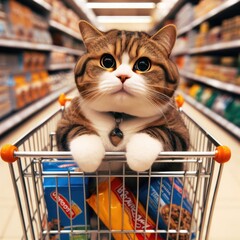
[(59, 95), (63, 92), (69, 92), (73, 89), (73, 86), (66, 86), (61, 88), (43, 99), (32, 103), (31, 105), (25, 107), (24, 109), (17, 111), (15, 114), (6, 118), (5, 120), (0, 122), (0, 136), (5, 132), (9, 131), (11, 128), (15, 127), (17, 124), (23, 122), (26, 118), (36, 113), (37, 111), (46, 107), (49, 103), (55, 101)]

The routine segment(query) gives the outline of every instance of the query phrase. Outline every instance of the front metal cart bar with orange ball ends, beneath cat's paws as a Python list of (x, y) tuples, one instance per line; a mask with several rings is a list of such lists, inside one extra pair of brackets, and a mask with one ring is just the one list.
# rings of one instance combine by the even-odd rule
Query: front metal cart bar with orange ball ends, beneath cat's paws
[[(52, 153), (52, 155), (51, 155)], [(70, 152), (18, 152), (18, 148), (11, 144), (6, 144), (1, 149), (1, 158), (5, 162), (13, 163), (16, 160), (18, 160), (20, 157), (58, 157), (58, 153), (63, 154), (65, 157), (71, 157)], [(189, 153), (189, 154), (188, 154)], [(114, 154), (117, 154), (114, 152)], [(121, 154), (124, 154), (124, 152), (121, 152)], [(109, 153), (106, 153), (106, 156), (108, 156)], [(110, 154), (111, 155), (111, 154)], [(173, 152), (162, 152), (159, 154), (159, 157), (167, 157), (171, 158), (173, 155)], [(218, 163), (226, 163), (231, 158), (231, 150), (227, 146), (218, 146), (215, 149), (215, 152), (207, 152), (207, 153), (201, 153), (201, 152), (176, 152), (176, 156), (172, 156), (173, 158), (182, 158), (186, 156), (191, 157), (213, 157), (213, 159)]]

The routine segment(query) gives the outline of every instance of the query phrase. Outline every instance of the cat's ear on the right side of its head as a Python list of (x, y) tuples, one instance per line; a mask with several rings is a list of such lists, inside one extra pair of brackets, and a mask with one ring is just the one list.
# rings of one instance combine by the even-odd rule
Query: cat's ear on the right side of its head
[(167, 54), (170, 55), (177, 37), (176, 27), (173, 24), (166, 25), (156, 32), (151, 39), (164, 46)]

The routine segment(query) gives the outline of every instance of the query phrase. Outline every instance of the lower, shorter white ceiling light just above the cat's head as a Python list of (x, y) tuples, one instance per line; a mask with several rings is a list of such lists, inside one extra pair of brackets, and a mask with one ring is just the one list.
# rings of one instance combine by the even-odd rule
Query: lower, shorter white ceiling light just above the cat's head
[(151, 23), (150, 16), (99, 16), (99, 23)]

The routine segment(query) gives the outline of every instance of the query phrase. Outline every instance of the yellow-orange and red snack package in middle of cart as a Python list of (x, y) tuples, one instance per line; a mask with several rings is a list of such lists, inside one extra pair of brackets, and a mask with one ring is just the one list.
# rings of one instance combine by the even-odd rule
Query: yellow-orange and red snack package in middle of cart
[[(110, 189), (109, 189), (110, 188)], [(146, 218), (146, 212), (140, 202), (137, 202), (135, 196), (127, 187), (123, 186), (120, 178), (112, 178), (109, 181), (102, 182), (98, 187), (98, 195), (93, 194), (87, 199), (88, 204), (108, 229), (124, 231), (127, 230), (155, 230), (156, 225), (150, 219)], [(162, 238), (155, 233), (113, 233), (115, 240), (129, 239), (157, 239)]]

